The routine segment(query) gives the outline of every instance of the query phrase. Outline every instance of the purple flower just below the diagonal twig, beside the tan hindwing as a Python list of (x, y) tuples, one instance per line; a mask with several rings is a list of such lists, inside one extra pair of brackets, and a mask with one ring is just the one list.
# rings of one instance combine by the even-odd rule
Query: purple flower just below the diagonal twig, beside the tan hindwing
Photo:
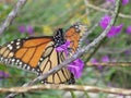
[(68, 65), (68, 70), (71, 71), (75, 78), (82, 76), (84, 62), (81, 59), (76, 59)]

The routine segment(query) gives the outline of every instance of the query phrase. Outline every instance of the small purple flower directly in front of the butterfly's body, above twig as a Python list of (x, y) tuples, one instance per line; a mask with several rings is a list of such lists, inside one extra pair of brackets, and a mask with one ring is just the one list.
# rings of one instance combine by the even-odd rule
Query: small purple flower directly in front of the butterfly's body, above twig
[(66, 56), (68, 57), (68, 48), (70, 47), (70, 41), (66, 41), (66, 44), (56, 48), (58, 52), (64, 51)]

